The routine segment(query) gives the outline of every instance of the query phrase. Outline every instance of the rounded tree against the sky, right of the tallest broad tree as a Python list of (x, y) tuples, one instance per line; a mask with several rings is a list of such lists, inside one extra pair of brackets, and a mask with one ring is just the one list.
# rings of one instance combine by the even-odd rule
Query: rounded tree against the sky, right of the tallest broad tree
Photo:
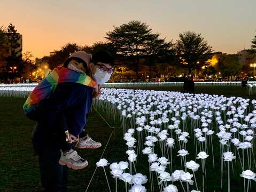
[(200, 59), (204, 59), (213, 50), (212, 46), (193, 31), (180, 33), (180, 39), (176, 41), (175, 52), (178, 62), (189, 69), (189, 73), (196, 68), (196, 63)]

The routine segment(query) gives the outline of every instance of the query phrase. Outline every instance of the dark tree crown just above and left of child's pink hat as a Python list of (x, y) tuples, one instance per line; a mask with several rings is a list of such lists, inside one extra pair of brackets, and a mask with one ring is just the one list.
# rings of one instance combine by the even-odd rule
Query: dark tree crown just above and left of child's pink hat
[(65, 46), (62, 46), (60, 50), (53, 51), (54, 54), (49, 58), (49, 67), (51, 69), (63, 65), (65, 60), (69, 57), (71, 53), (76, 51), (80, 51), (82, 49), (81, 46), (77, 45), (76, 43), (68, 43)]

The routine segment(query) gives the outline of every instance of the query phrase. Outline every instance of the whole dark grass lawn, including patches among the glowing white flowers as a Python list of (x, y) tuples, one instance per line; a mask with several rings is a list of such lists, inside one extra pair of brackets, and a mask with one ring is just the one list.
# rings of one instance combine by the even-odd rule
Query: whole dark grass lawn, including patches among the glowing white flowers
[[(210, 87), (196, 87), (196, 91), (204, 91), (205, 93), (212, 94), (224, 94), (227, 96), (235, 95), (245, 98), (253, 99), (248, 97), (247, 91), (241, 89), (241, 87), (226, 86), (221, 89), (215, 89), (213, 86)], [(182, 87), (176, 87), (175, 91), (181, 91)], [(247, 97), (246, 97), (247, 95)], [(33, 149), (30, 142), (30, 134), (35, 126), (35, 122), (30, 121), (25, 117), (22, 111), (22, 105), (25, 99), (18, 98), (0, 98), (0, 191), (38, 191), (40, 189), (40, 174), (38, 170), (37, 157), (33, 155)], [(103, 113), (103, 111), (100, 111)], [(109, 114), (109, 116), (111, 116)], [(108, 119), (111, 125), (114, 122)], [(122, 137), (122, 129), (117, 123), (115, 134), (111, 138), (108, 144), (103, 158), (106, 158), (108, 162), (120, 162), (128, 161), (125, 151), (127, 147)], [(69, 191), (86, 191), (89, 180), (94, 173), (96, 162), (99, 160), (103, 153), (106, 142), (112, 132), (102, 118), (98, 116), (96, 111), (92, 111), (89, 115), (89, 121), (86, 128), (90, 136), (96, 140), (102, 142), (103, 147), (92, 150), (84, 149), (79, 150), (79, 154), (85, 157), (89, 165), (86, 169), (80, 171), (69, 172)], [(193, 141), (189, 141), (193, 143)], [(211, 159), (207, 162), (207, 180), (206, 180), (206, 191), (221, 191), (220, 181), (220, 156), (219, 156), (219, 143), (218, 139), (215, 141), (214, 151), (218, 151), (215, 154), (215, 170), (212, 167)], [(187, 156), (187, 161), (195, 159), (195, 154), (192, 151), (195, 150), (195, 146), (189, 145), (188, 151), (191, 153)], [(175, 150), (176, 151), (176, 150)], [(158, 153), (160, 156), (160, 153)], [(175, 152), (176, 155), (176, 152)], [(148, 174), (148, 158), (146, 156), (138, 157), (138, 163), (136, 164), (137, 172)], [(181, 169), (180, 158), (176, 157), (173, 162), (173, 169)], [(239, 161), (234, 163), (234, 167), (238, 167)], [(224, 167), (223, 173), (223, 191), (227, 191), (227, 167)], [(184, 167), (183, 167), (184, 169)], [(112, 179), (109, 169), (106, 169), (108, 174), (108, 180), (112, 190), (114, 191), (114, 179)], [(231, 171), (230, 171), (231, 172)], [(255, 170), (254, 170), (255, 172)], [(235, 170), (235, 174), (230, 174), (231, 179), (231, 191), (243, 191), (243, 179), (239, 177), (242, 173), (241, 169)], [(196, 174), (198, 187), (201, 187), (201, 172), (198, 171)], [(193, 179), (193, 178), (192, 178)], [(252, 181), (254, 182), (254, 181)], [(155, 180), (156, 190), (157, 181)], [(169, 182), (170, 183), (170, 182)], [(180, 187), (178, 182), (175, 182)], [(174, 183), (174, 185), (175, 185)], [(125, 191), (123, 188), (124, 184), (119, 180), (119, 191)], [(185, 184), (184, 184), (185, 186)], [(252, 191), (255, 189), (255, 183), (252, 183)], [(148, 191), (150, 191), (150, 184), (146, 185)], [(190, 189), (196, 189), (195, 185)], [(96, 170), (95, 177), (92, 180), (88, 191), (108, 191), (105, 180), (103, 169), (99, 168)], [(179, 188), (179, 191), (182, 191)]]

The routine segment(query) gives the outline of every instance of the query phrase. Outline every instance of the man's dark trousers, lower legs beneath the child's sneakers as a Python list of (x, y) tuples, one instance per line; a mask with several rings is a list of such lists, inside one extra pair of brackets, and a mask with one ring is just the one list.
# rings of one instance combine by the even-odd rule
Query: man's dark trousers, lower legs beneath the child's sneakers
[(59, 164), (60, 150), (41, 148), (38, 151), (43, 191), (67, 191), (68, 167)]

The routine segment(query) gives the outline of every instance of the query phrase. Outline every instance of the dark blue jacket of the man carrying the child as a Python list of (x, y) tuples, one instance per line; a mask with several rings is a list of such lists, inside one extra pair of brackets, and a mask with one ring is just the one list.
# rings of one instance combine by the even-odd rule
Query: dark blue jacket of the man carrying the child
[(48, 99), (39, 103), (34, 119), (47, 134), (68, 130), (77, 137), (86, 125), (92, 91), (92, 87), (79, 83), (60, 83)]

